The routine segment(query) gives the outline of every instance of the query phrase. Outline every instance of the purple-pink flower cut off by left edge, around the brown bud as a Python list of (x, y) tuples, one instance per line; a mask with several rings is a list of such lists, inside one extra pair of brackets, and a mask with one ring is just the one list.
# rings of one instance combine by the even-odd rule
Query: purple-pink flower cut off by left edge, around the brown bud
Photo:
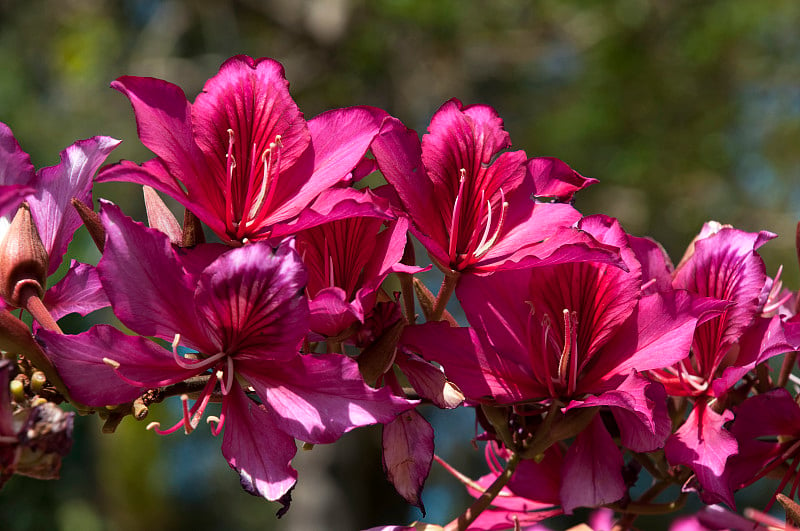
[[(58, 270), (73, 234), (82, 224), (71, 201), (92, 203), (94, 174), (119, 143), (106, 136), (79, 140), (61, 152), (57, 165), (36, 171), (11, 130), (0, 123), (0, 184), (12, 186), (15, 197), (31, 189), (24, 195), (29, 214), (26, 209), (16, 211), (20, 219), (14, 223), (16, 216), (12, 208), (0, 217), (3, 270), (4, 274), (14, 277), (3, 279), (3, 283), (16, 282), (4, 290), (6, 306), (13, 308), (24, 302), (20, 290), (26, 284), (31, 285), (28, 280), (39, 284), (36, 296), (43, 296), (44, 306), (55, 320), (72, 312), (86, 315), (108, 305), (96, 272), (87, 264), (73, 261), (66, 275), (50, 289), (47, 289), (46, 279)], [(28, 215), (30, 219), (26, 223), (24, 219)], [(18, 276), (18, 273), (26, 276), (30, 268), (15, 272), (15, 261), (30, 260), (26, 251), (31, 246), (39, 250), (36, 261), (40, 263), (33, 273), (39, 278), (35, 279)]]

